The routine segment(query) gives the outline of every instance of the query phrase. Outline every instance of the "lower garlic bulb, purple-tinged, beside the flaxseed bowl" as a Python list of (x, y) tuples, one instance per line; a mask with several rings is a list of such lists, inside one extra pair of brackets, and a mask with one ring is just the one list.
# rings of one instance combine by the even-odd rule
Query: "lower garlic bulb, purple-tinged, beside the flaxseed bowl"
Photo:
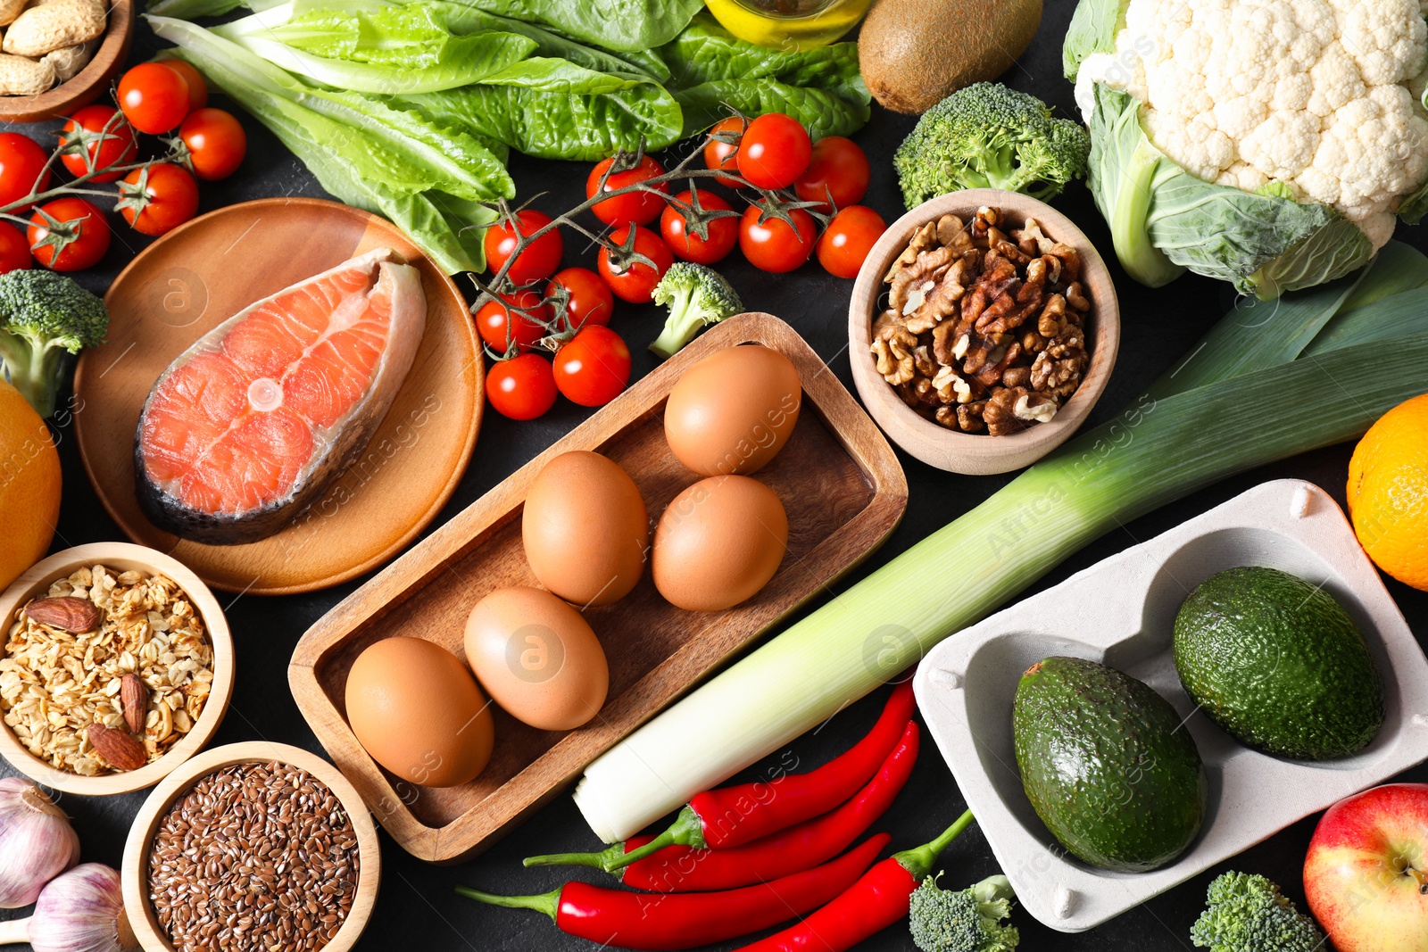
[(59, 876), (40, 893), (30, 916), (34, 952), (129, 952), (137, 949), (124, 915), (119, 873), (87, 862)]

